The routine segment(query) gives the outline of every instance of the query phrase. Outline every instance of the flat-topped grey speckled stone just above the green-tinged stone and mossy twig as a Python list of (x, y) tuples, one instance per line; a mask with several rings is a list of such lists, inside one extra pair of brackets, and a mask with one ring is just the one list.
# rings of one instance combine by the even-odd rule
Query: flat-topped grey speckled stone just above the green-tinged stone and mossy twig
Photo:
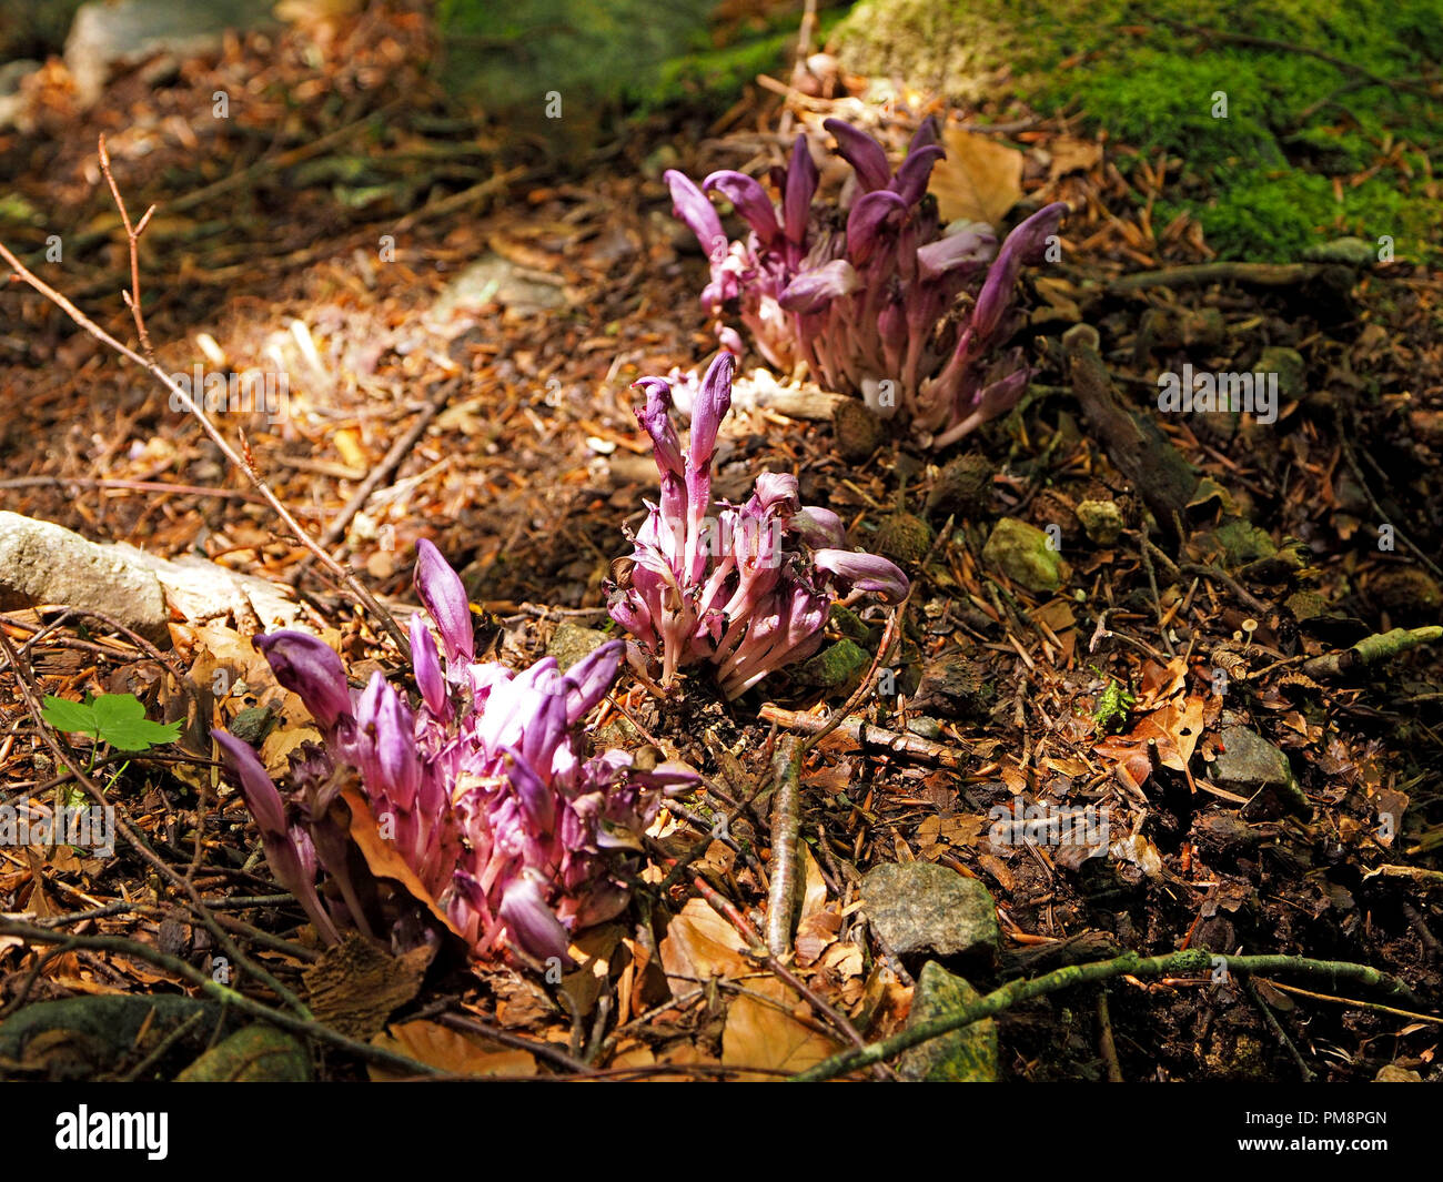
[(921, 953), (991, 964), (997, 908), (987, 888), (931, 862), (883, 863), (861, 882), (861, 905), (898, 955)]

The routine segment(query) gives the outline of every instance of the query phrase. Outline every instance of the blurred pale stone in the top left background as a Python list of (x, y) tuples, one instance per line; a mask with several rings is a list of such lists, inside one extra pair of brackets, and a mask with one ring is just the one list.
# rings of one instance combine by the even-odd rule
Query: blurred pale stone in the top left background
[(110, 69), (121, 62), (169, 52), (176, 56), (209, 53), (227, 29), (273, 25), (271, 0), (118, 0), (91, 3), (75, 13), (65, 39), (65, 65), (82, 102), (100, 98)]

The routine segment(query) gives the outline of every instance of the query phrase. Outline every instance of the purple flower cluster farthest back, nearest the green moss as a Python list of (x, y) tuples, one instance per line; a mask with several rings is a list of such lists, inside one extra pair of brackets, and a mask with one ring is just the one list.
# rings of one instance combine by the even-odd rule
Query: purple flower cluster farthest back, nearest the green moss
[[(818, 172), (805, 134), (789, 165), (772, 170), (781, 216), (745, 173), (714, 172), (700, 188), (665, 173), (677, 216), (711, 264), (701, 303), (713, 315), (734, 307), (772, 365), (804, 361), (818, 381), (861, 394), (883, 417), (902, 411), (913, 432), (944, 447), (1010, 410), (1026, 388), (1022, 351), (999, 351), (1017, 329), (1017, 276), (1042, 260), (1066, 205), (1039, 209), (999, 251), (988, 227), (944, 231), (937, 203), (924, 201), (944, 154), (932, 120), (896, 172), (867, 133), (835, 118), (824, 127), (853, 167), (838, 209), (812, 205)], [(750, 225), (745, 241), (727, 240), (710, 191)], [(974, 299), (954, 316), (964, 292)]]

